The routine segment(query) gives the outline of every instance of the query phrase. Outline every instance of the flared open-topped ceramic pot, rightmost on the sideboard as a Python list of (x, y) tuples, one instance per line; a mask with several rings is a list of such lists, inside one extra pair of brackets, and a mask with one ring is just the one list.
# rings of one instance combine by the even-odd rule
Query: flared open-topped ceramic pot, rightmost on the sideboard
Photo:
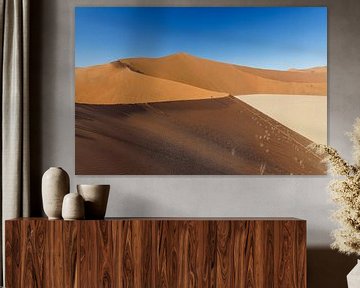
[(77, 185), (85, 201), (85, 219), (104, 219), (110, 185)]

